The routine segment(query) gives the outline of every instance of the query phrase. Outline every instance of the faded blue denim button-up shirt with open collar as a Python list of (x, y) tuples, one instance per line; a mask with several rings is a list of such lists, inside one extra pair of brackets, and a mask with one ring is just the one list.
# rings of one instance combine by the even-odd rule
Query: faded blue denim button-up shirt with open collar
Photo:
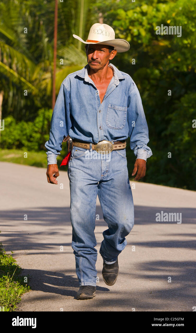
[(89, 143), (102, 140), (126, 140), (137, 159), (146, 161), (152, 155), (147, 146), (148, 126), (141, 97), (129, 74), (113, 69), (102, 103), (94, 82), (88, 76), (87, 64), (69, 74), (62, 82), (51, 119), (46, 142), (48, 164), (56, 164), (62, 141), (69, 135)]

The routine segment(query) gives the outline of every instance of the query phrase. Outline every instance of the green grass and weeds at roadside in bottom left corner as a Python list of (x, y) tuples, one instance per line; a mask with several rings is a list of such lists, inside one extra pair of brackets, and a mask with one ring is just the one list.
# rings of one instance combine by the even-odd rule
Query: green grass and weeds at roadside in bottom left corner
[(12, 253), (7, 254), (0, 243), (0, 311), (14, 311), (20, 296), (30, 290)]

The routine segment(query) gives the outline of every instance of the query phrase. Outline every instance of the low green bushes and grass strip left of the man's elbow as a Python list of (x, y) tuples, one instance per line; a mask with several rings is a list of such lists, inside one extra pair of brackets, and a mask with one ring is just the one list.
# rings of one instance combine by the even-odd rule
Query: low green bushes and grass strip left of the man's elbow
[[(5, 129), (1, 132), (0, 161), (46, 167), (44, 145), (49, 139), (51, 117), (52, 109), (40, 109), (34, 122), (16, 122), (12, 116), (5, 118)], [(27, 152), (28, 158), (24, 158), (24, 152)], [(58, 166), (66, 154), (67, 145), (64, 143)]]

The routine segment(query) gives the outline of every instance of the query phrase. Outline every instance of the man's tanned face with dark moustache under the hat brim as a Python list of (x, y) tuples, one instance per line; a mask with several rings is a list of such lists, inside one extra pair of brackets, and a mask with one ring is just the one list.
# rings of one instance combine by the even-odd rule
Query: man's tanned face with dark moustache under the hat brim
[(109, 53), (110, 46), (102, 44), (87, 44), (85, 45), (87, 62), (92, 69), (103, 68), (108, 60), (112, 60), (117, 51), (113, 50)]

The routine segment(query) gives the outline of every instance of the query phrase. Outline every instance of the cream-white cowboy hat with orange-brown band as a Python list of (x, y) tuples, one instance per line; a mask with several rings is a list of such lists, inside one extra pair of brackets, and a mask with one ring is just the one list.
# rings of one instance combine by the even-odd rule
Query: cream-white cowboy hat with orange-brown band
[(105, 23), (93, 24), (90, 28), (86, 42), (77, 35), (73, 35), (73, 37), (79, 39), (79, 41), (84, 44), (104, 44), (114, 46), (114, 49), (119, 53), (130, 49), (130, 45), (126, 40), (119, 38), (115, 39), (114, 29)]

